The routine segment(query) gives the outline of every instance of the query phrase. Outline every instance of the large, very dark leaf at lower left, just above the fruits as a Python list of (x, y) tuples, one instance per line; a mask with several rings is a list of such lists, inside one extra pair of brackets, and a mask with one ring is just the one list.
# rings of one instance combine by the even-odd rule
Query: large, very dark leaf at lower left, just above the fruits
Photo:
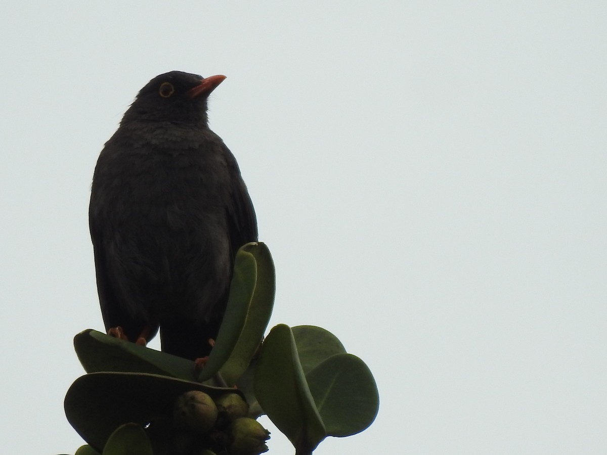
[(213, 398), (228, 391), (240, 394), (233, 388), (205, 386), (156, 374), (96, 372), (75, 380), (67, 391), (64, 408), (73, 428), (101, 453), (118, 426), (129, 422), (144, 426), (172, 416), (177, 397), (191, 390)]

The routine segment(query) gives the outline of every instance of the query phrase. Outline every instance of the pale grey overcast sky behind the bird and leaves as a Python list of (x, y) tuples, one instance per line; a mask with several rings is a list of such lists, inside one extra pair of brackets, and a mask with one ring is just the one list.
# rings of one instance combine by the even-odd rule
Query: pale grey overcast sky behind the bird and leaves
[[(607, 451), (607, 4), (11, 2), (0, 16), (0, 453), (73, 454), (72, 338), (103, 330), (104, 142), (170, 70), (276, 264), (271, 325), (339, 337), (371, 427), (318, 455)], [(157, 343), (152, 346), (158, 347)], [(272, 431), (270, 454), (293, 453)]]

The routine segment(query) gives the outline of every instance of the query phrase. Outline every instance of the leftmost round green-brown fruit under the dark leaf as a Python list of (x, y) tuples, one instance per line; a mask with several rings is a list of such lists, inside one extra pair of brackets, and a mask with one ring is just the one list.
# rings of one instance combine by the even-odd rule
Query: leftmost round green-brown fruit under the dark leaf
[(173, 417), (177, 426), (207, 433), (217, 420), (217, 406), (206, 393), (192, 390), (177, 397)]

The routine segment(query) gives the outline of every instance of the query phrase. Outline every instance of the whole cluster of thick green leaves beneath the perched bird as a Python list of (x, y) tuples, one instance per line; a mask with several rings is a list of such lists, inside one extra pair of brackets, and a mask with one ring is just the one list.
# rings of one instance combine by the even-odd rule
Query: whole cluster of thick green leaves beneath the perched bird
[[(76, 455), (254, 455), (267, 450), (269, 433), (253, 420), (262, 414), (300, 455), (311, 454), (327, 436), (367, 428), (378, 413), (375, 380), (333, 334), (316, 326), (277, 325), (263, 339), (274, 285), (265, 244), (240, 248), (223, 323), (202, 369), (92, 329), (76, 335), (87, 374), (76, 379), (64, 402), (67, 419), (87, 442)], [(237, 394), (248, 403), (243, 418), (254, 424), (239, 422), (236, 431), (234, 422), (218, 417), (204, 434), (181, 428), (175, 403), (192, 391), (212, 400)]]

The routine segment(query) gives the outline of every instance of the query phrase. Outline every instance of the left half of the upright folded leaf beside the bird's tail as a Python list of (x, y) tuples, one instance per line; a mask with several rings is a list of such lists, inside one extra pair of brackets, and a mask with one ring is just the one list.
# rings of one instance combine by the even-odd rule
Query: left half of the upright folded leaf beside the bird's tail
[(219, 371), (229, 359), (240, 333), (245, 326), (246, 314), (253, 299), (257, 281), (257, 263), (253, 254), (241, 247), (234, 260), (234, 275), (230, 285), (228, 305), (226, 306), (223, 322), (211, 350), (205, 367), (198, 374), (198, 380), (205, 382)]

